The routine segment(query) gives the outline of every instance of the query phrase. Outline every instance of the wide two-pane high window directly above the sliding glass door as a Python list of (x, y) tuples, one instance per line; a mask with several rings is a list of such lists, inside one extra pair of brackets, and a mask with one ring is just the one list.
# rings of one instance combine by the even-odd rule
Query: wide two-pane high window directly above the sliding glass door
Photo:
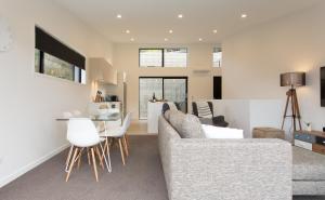
[(186, 67), (186, 48), (140, 49), (140, 67)]

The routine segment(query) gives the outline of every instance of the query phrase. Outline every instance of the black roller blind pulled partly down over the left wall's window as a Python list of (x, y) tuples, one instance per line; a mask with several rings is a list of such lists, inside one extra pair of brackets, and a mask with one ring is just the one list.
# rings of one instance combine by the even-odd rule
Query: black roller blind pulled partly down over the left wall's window
[(86, 69), (84, 56), (57, 41), (55, 38), (38, 27), (35, 27), (35, 48), (67, 63), (70, 63), (76, 67)]

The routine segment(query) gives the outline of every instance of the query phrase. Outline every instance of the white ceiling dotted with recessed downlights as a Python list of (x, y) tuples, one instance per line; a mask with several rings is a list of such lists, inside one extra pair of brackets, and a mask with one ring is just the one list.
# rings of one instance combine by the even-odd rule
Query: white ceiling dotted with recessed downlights
[[(223, 38), (322, 0), (54, 0), (113, 42), (220, 43)], [(242, 13), (248, 15), (240, 18)], [(121, 14), (121, 18), (116, 15)], [(178, 18), (183, 14), (183, 18)], [(129, 29), (130, 34), (125, 31)], [(172, 29), (173, 34), (168, 30)], [(217, 29), (218, 34), (212, 30)]]

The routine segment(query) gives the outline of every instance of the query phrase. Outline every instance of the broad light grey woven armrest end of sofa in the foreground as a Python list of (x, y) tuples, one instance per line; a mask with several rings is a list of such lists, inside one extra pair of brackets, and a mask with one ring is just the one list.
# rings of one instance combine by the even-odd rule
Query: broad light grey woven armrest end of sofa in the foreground
[(291, 145), (280, 139), (173, 139), (170, 199), (291, 199)]

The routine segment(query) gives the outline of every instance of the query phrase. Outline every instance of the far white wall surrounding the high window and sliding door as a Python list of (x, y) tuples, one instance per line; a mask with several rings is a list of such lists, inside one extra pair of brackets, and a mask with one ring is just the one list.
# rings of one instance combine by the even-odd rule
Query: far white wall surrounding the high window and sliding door
[[(187, 48), (186, 68), (140, 68), (139, 48)], [(188, 77), (188, 110), (192, 99), (211, 99), (213, 96), (213, 76), (220, 76), (220, 68), (212, 68), (213, 44), (115, 44), (114, 67), (127, 72), (127, 107), (139, 118), (139, 77), (141, 76), (187, 76)], [(194, 74), (193, 69), (210, 69), (209, 74)]]

